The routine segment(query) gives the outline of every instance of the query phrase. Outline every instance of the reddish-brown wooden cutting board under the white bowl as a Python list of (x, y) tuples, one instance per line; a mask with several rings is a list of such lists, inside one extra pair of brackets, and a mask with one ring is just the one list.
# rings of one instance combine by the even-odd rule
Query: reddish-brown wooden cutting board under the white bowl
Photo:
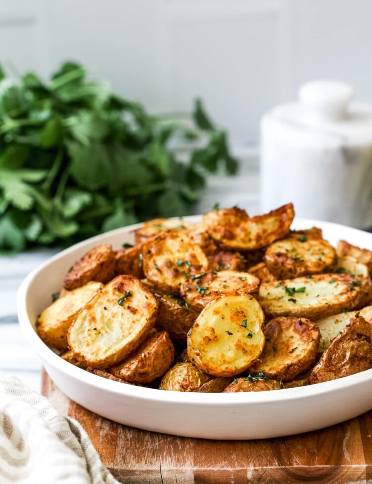
[(147, 432), (102, 418), (69, 400), (46, 372), (42, 392), (82, 424), (121, 483), (372, 483), (372, 411), (301, 435), (216, 441)]

